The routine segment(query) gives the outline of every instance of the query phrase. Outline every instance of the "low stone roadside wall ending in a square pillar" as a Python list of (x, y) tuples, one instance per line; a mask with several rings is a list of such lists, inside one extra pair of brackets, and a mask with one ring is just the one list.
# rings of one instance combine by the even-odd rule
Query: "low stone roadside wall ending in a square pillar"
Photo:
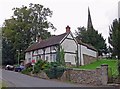
[(67, 69), (61, 80), (80, 84), (106, 85), (108, 82), (108, 66), (101, 65), (101, 68), (95, 70)]

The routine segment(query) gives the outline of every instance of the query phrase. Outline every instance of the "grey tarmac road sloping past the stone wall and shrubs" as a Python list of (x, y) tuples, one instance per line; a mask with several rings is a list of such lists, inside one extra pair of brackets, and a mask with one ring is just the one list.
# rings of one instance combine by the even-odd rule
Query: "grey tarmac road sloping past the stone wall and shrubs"
[[(6, 81), (9, 87), (93, 87), (82, 84), (64, 83), (55, 80), (45, 80), (7, 70), (2, 70), (2, 79)], [(113, 87), (105, 89), (113, 89)]]

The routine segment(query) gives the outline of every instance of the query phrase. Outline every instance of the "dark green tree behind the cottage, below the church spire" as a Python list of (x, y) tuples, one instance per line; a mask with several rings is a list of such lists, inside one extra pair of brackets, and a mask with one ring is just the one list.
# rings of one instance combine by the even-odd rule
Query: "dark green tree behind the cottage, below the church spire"
[(85, 27), (78, 27), (75, 34), (77, 39), (94, 46), (98, 50), (99, 55), (107, 52), (104, 38), (98, 33), (98, 31), (94, 30), (94, 28), (89, 28), (86, 30)]

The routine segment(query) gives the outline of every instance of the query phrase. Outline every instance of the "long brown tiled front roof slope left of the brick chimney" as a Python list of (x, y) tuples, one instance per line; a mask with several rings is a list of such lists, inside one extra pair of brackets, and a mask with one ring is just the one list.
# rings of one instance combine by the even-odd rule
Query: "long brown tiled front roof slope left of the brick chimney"
[(30, 47), (28, 47), (25, 52), (29, 52), (32, 50), (36, 50), (36, 49), (41, 49), (41, 48), (45, 48), (48, 46), (52, 46), (52, 45), (56, 45), (59, 44), (60, 41), (67, 35), (68, 33), (64, 33), (61, 35), (57, 35), (57, 36), (53, 36), (50, 37), (46, 40), (42, 40), (41, 42), (36, 42), (33, 45), (31, 45)]

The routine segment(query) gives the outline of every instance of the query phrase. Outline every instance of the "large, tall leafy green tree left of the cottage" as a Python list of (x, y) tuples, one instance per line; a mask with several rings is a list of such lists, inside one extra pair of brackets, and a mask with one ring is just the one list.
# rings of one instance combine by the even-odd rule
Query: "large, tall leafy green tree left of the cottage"
[[(52, 11), (49, 8), (44, 8), (40, 4), (30, 4), (29, 7), (22, 6), (21, 8), (14, 8), (14, 15), (11, 19), (7, 19), (2, 27), (2, 36), (5, 44), (11, 45), (8, 51), (12, 51), (14, 59), (17, 59), (16, 50), (22, 50), (20, 54), (24, 54), (25, 49), (36, 42), (37, 37), (47, 39), (51, 36), (46, 29), (56, 28), (47, 18), (52, 16)], [(3, 45), (5, 45), (3, 44)], [(6, 51), (6, 48), (4, 49)], [(7, 55), (7, 54), (3, 54)], [(21, 59), (24, 59), (24, 56)], [(3, 60), (5, 60), (3, 58)]]

